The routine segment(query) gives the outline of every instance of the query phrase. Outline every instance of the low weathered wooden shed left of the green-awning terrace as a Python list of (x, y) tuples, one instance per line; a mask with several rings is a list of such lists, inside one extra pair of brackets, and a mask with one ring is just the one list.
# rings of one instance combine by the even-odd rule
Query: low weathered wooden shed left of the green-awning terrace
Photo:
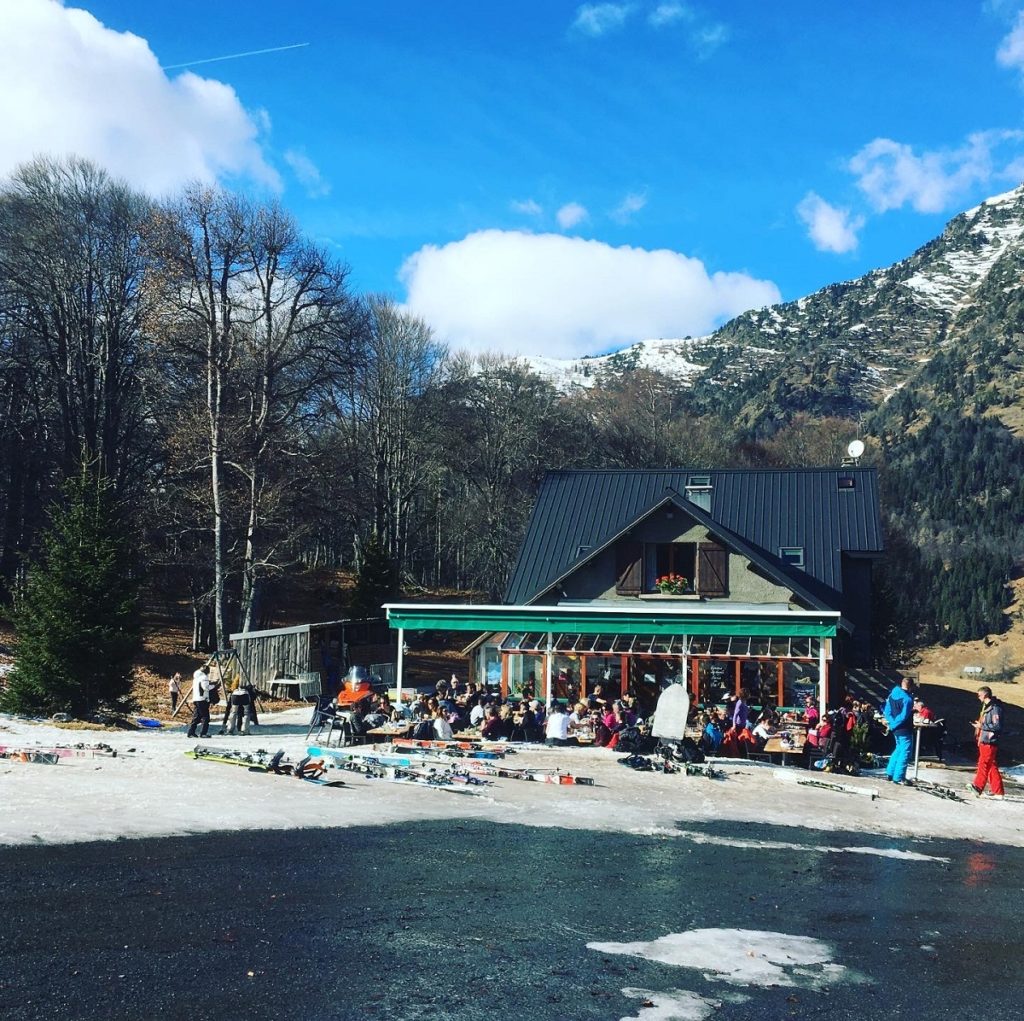
[[(243, 631), (231, 645), (249, 679), (269, 690), (278, 678), (297, 678), (309, 686), (319, 680), (319, 692), (334, 694), (353, 664), (379, 664), (394, 656), (387, 620), (325, 621), (269, 631)], [(303, 696), (315, 691), (302, 691)]]

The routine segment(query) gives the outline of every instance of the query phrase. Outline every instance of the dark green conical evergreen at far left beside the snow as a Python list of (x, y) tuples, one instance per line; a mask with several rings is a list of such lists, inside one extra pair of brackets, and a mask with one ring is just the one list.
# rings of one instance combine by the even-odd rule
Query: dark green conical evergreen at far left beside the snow
[(51, 510), (40, 562), (14, 612), (17, 653), (0, 705), (15, 713), (131, 708), (141, 644), (132, 539), (110, 485), (88, 468)]

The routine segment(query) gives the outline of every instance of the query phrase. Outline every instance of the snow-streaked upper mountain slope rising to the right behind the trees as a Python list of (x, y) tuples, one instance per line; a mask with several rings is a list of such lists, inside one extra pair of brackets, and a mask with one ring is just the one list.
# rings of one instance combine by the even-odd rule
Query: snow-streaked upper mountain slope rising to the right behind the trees
[(559, 388), (605, 373), (657, 370), (697, 405), (752, 424), (767, 406), (856, 414), (885, 400), (980, 322), (992, 330), (1024, 298), (1024, 185), (954, 217), (909, 258), (798, 301), (754, 309), (708, 337), (645, 340), (596, 358), (527, 359)]

